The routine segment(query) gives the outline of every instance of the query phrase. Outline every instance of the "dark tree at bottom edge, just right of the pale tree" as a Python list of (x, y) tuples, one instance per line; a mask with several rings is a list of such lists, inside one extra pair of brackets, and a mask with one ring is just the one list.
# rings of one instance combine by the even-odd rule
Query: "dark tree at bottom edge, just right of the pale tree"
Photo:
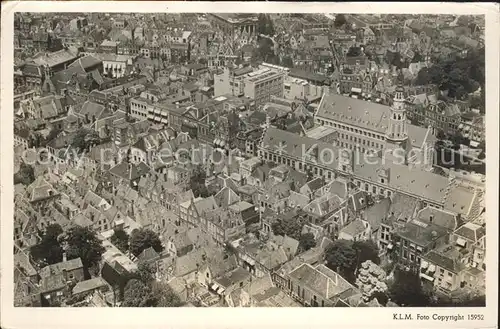
[(394, 282), (389, 287), (391, 300), (400, 306), (429, 306), (430, 296), (423, 288), (417, 272), (397, 268), (394, 272)]

